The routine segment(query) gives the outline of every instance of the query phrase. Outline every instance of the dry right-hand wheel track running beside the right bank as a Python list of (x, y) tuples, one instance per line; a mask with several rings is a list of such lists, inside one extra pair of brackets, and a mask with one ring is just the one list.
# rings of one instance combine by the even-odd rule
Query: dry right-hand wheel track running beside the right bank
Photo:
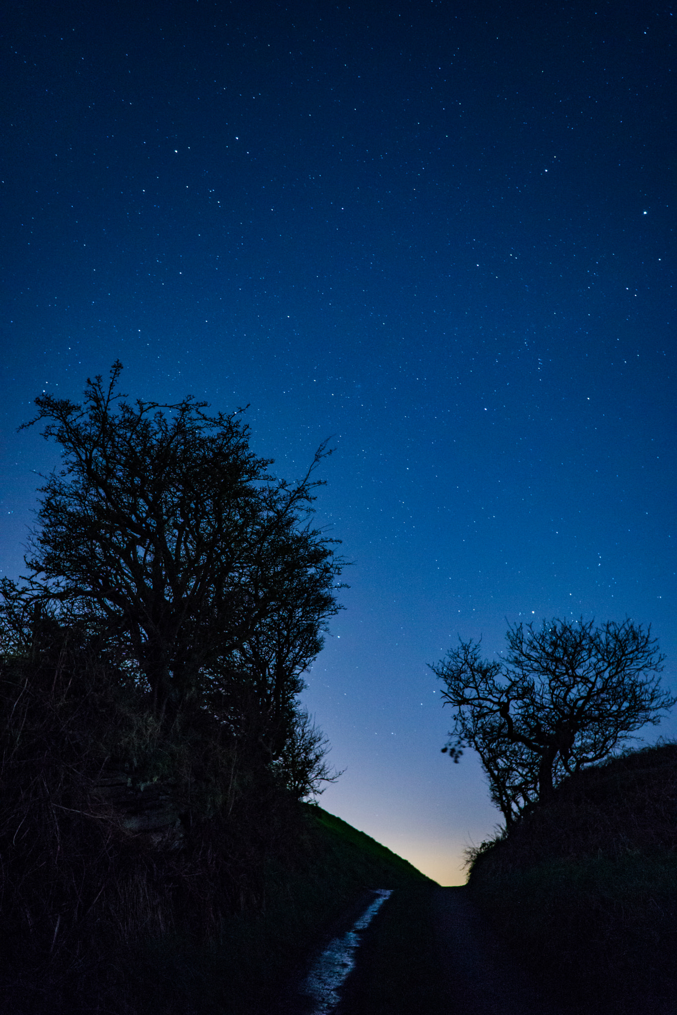
[(537, 996), (483, 925), (467, 888), (438, 888), (433, 904), (450, 1010), (463, 1015), (564, 1015)]

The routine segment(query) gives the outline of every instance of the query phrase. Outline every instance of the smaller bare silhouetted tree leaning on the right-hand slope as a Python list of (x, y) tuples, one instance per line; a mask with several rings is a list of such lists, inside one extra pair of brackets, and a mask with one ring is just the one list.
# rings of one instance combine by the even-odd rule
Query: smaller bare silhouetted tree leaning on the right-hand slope
[(458, 761), (472, 747), (491, 798), (510, 826), (529, 804), (547, 801), (565, 774), (607, 758), (628, 735), (660, 722), (677, 701), (660, 687), (664, 657), (626, 619), (553, 619), (510, 627), (504, 659), (480, 658), (480, 645), (459, 648), (430, 669), (455, 709), (444, 751)]

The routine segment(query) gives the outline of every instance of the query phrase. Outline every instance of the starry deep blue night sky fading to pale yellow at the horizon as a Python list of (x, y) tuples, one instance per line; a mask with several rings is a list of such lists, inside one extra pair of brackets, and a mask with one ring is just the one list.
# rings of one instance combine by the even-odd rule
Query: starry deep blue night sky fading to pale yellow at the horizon
[[(2, 42), (1, 573), (16, 433), (119, 357), (249, 404), (353, 561), (304, 700), (327, 810), (461, 883), (500, 817), (426, 667), (506, 622), (652, 623), (675, 660), (668, 3), (17, 2)], [(677, 720), (648, 740), (677, 735)]]

